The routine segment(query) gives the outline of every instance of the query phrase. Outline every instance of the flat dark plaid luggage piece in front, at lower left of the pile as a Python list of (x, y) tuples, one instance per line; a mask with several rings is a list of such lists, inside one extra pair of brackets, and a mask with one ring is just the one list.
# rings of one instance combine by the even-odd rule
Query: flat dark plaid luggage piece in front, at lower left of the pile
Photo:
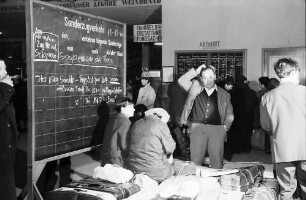
[[(47, 192), (45, 200), (121, 200), (140, 191), (133, 183), (111, 183), (101, 179), (87, 178), (69, 183), (65, 187)], [(86, 197), (86, 198), (85, 198)]]

